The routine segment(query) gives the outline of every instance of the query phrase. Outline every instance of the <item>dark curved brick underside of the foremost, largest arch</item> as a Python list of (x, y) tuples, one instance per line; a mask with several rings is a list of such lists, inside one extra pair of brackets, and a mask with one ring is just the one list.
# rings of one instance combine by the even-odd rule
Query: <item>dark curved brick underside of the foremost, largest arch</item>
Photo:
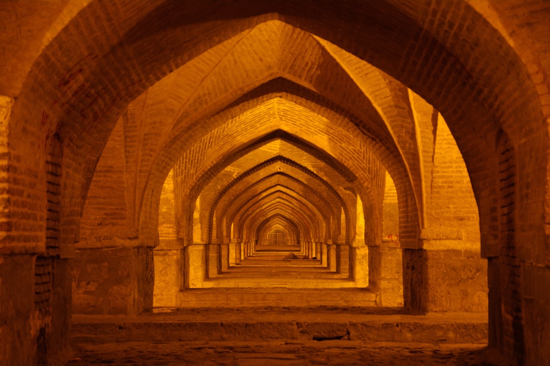
[[(481, 192), (487, 185), (494, 185), (485, 178), (485, 172), (497, 166), (494, 142), (487, 144), (486, 136), (494, 136), (500, 127), (508, 129), (518, 145), (518, 154), (525, 153), (526, 160), (533, 154), (527, 140), (546, 146), (542, 137), (537, 139), (538, 134), (533, 132), (536, 128), (530, 123), (514, 123), (514, 116), (540, 121), (542, 115), (540, 105), (529, 102), (538, 100), (532, 80), (525, 77), (529, 72), (508, 41), (469, 4), (452, 4), (452, 10), (464, 16), (448, 32), (439, 31), (445, 20), (430, 22), (428, 9), (439, 5), (427, 0), (340, 5), (334, 7), (325, 1), (304, 1), (296, 7), (291, 2), (241, 0), (214, 5), (209, 1), (189, 4), (158, 0), (130, 11), (124, 4), (112, 7), (108, 2), (90, 2), (43, 48), (26, 74), (12, 114), (9, 133), (14, 137), (13, 148), (40, 150), (51, 133), (58, 132), (67, 166), (64, 178), (77, 188), (69, 190), (62, 205), (65, 212), (80, 212), (100, 151), (129, 102), (207, 50), (244, 32), (252, 33), (257, 25), (273, 19), (310, 32), (380, 67), (441, 110), (463, 151), (478, 200), (485, 199)], [(95, 24), (95, 14), (108, 14), (116, 20), (101, 22), (102, 33), (112, 36), (102, 42), (87, 37), (89, 32), (84, 31), (86, 25), (100, 26)], [(477, 37), (474, 35), (483, 37), (472, 39)], [(144, 49), (148, 52), (142, 52)], [(502, 63), (494, 65), (495, 58)], [(487, 77), (484, 65), (494, 66), (492, 77)], [(438, 75), (445, 75), (445, 80), (439, 80)], [(507, 86), (513, 86), (525, 98), (509, 98), (515, 94), (503, 93)], [(80, 87), (86, 93), (75, 93), (83, 90)], [(36, 93), (47, 97), (36, 98)], [(35, 108), (27, 108), (30, 104)], [(376, 126), (373, 121), (369, 123)], [(25, 140), (19, 135), (31, 138)], [(383, 133), (377, 137), (383, 138)], [(394, 151), (398, 160), (403, 159), (399, 151), (405, 148)], [(403, 176), (417, 187), (411, 182), (415, 170), (412, 162), (401, 161), (406, 167)], [(166, 173), (159, 174), (159, 182)], [(394, 175), (394, 180), (399, 187), (399, 179), (395, 179), (398, 176)], [(544, 172), (537, 171), (530, 177), (533, 182), (543, 182)], [(533, 199), (542, 197), (543, 189), (544, 184), (536, 185)], [(408, 197), (414, 197), (415, 205), (420, 206), (418, 194)], [(409, 202), (406, 213), (417, 210), (415, 205)], [(144, 206), (149, 210), (154, 205), (145, 202)], [(485, 210), (491, 204), (487, 200), (482, 206)], [(415, 229), (411, 228), (409, 234), (412, 239)]]

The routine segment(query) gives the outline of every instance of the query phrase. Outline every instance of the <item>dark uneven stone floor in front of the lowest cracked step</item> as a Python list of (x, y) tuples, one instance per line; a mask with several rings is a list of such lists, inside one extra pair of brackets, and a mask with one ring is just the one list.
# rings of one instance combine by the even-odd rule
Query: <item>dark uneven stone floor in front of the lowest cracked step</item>
[(480, 345), (364, 341), (123, 342), (81, 344), (68, 366), (84, 365), (496, 365)]

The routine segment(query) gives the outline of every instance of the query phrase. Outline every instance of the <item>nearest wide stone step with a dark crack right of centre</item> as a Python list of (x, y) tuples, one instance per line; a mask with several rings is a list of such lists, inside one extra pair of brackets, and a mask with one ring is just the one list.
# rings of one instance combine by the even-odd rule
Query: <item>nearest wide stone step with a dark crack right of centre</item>
[(137, 317), (74, 314), (73, 341), (97, 344), (199, 340), (353, 340), (487, 344), (487, 314), (414, 316), (398, 311), (387, 314), (364, 312), (360, 309), (338, 308), (245, 307), (178, 309)]

